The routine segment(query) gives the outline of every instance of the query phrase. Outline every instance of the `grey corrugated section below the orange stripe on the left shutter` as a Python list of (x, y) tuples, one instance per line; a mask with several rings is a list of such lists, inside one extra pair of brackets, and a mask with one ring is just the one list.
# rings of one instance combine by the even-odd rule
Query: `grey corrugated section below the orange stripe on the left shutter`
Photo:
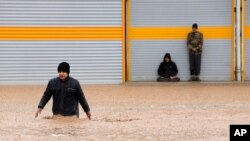
[(120, 41), (2, 41), (1, 83), (46, 83), (62, 61), (84, 83), (121, 81)]

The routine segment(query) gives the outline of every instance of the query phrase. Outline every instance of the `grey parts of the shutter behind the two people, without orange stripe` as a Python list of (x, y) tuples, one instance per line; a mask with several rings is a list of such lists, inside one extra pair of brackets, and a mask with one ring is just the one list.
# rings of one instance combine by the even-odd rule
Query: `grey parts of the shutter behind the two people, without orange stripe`
[[(134, 0), (131, 27), (231, 27), (230, 0)], [(178, 31), (176, 31), (178, 32)], [(216, 32), (216, 31), (215, 31)], [(231, 39), (206, 39), (202, 54), (202, 80), (231, 80)], [(184, 39), (131, 39), (131, 80), (156, 80), (157, 69), (166, 52), (172, 54), (181, 80), (188, 80), (189, 61)]]

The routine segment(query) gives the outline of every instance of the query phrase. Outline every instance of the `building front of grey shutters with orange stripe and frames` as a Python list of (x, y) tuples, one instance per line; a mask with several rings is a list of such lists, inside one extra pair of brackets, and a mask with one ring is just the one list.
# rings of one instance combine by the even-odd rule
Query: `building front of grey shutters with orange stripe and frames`
[(249, 80), (249, 6), (244, 0), (0, 0), (0, 84), (46, 84), (62, 61), (81, 83), (155, 81), (166, 52), (185, 81), (193, 23), (204, 35), (200, 78), (235, 80), (236, 22), (243, 35), (240, 80)]

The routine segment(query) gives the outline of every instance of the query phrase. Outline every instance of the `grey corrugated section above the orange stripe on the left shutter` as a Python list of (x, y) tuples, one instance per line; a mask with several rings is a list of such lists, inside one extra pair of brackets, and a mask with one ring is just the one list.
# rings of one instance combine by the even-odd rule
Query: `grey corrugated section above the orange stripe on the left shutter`
[(121, 26), (121, 0), (0, 0), (0, 25)]

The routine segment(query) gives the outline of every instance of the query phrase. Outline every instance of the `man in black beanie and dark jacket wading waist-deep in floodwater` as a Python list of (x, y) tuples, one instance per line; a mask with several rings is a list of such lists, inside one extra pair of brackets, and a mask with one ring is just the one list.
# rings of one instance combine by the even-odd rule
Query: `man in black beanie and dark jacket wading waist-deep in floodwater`
[(91, 113), (89, 105), (85, 99), (79, 82), (69, 76), (69, 64), (67, 62), (60, 63), (57, 71), (58, 77), (49, 81), (40, 103), (38, 104), (35, 117), (37, 117), (38, 114), (41, 114), (47, 102), (51, 97), (53, 97), (53, 115), (79, 117), (79, 102), (90, 120)]

